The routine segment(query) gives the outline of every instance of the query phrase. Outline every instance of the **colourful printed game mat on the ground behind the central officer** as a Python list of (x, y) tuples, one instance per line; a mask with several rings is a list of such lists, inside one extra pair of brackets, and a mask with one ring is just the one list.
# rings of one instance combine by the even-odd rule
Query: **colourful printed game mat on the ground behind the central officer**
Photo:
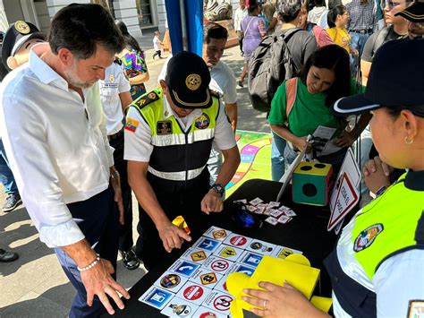
[(242, 162), (233, 179), (225, 187), (226, 197), (247, 180), (255, 178), (271, 180), (271, 133), (237, 130), (235, 139)]

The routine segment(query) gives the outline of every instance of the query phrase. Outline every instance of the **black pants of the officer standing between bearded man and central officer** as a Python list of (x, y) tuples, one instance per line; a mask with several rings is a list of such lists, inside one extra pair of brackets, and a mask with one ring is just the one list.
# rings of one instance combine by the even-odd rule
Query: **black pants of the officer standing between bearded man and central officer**
[[(123, 159), (123, 130), (110, 139), (109, 144), (114, 147), (114, 168), (118, 170), (123, 193), (123, 225), (120, 228), (119, 250), (128, 251), (134, 244), (132, 240), (132, 203), (131, 187), (128, 185), (127, 161)], [(116, 204), (114, 204), (116, 206)], [(116, 206), (117, 209), (117, 206)]]

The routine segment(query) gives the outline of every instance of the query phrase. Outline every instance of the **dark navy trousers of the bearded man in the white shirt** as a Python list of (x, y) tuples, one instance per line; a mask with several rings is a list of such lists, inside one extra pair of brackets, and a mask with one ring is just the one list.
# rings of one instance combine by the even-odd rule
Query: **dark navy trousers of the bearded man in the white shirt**
[[(111, 262), (116, 270), (119, 224), (118, 215), (114, 209), (116, 204), (113, 193), (112, 189), (106, 189), (88, 200), (67, 204), (67, 207), (89, 245), (95, 245), (96, 253)], [(62, 248), (55, 248), (55, 254), (64, 273), (77, 290), (69, 316), (71, 318), (97, 317), (104, 313), (105, 309), (97, 296), (94, 297), (91, 307), (87, 305), (87, 293), (82, 284), (80, 271), (77, 270), (77, 264)], [(115, 274), (112, 276), (116, 279)]]

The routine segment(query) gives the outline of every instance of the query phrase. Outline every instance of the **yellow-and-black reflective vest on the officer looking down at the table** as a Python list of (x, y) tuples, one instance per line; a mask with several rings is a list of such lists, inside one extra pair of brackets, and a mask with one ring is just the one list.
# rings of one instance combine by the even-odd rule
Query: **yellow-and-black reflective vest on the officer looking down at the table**
[(131, 104), (136, 107), (151, 129), (153, 152), (148, 172), (165, 180), (187, 181), (199, 176), (208, 163), (215, 136), (219, 99), (202, 109), (187, 131), (174, 115), (164, 117), (162, 89), (153, 90)]

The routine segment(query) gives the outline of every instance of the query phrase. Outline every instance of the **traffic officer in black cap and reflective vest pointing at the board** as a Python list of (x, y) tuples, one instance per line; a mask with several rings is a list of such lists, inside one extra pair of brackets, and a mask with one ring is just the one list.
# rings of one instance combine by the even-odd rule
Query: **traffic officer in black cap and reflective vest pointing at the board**
[[(127, 114), (124, 158), (142, 233), (136, 254), (148, 269), (165, 251), (191, 240), (172, 224), (176, 216), (193, 235), (210, 226), (207, 214), (223, 210), (224, 187), (240, 163), (232, 127), (209, 82), (202, 58), (181, 52), (169, 61), (161, 87), (135, 100)], [(214, 140), (225, 162), (210, 186), (206, 166)]]

